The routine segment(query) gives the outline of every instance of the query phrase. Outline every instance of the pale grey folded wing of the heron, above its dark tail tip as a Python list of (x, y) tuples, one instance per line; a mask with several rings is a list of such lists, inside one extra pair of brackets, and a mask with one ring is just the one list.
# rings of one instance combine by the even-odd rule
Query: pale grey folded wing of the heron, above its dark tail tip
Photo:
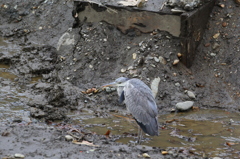
[(142, 81), (130, 81), (124, 87), (125, 104), (133, 117), (142, 124), (150, 124), (157, 117), (157, 105), (151, 89)]

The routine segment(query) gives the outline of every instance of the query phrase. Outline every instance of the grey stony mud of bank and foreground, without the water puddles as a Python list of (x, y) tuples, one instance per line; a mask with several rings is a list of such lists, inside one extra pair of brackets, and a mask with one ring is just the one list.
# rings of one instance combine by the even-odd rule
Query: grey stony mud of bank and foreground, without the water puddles
[[(1, 0), (0, 6), (0, 35), (19, 47), (15, 53), (0, 52), (0, 63), (9, 65), (7, 71), (17, 76), (14, 81), (0, 78), (1, 86), (23, 89), (24, 103), (31, 117), (38, 119), (0, 124), (1, 157), (19, 152), (26, 158), (137, 158), (148, 152), (152, 158), (163, 158), (161, 148), (124, 145), (84, 132), (81, 125), (72, 126), (69, 111), (84, 109), (106, 118), (110, 112), (127, 114), (116, 93), (82, 93), (120, 76), (140, 78), (148, 85), (160, 77), (159, 114), (170, 113), (176, 103), (186, 100), (194, 100), (200, 109), (240, 110), (240, 13), (233, 0), (217, 1), (191, 68), (172, 65), (180, 41), (166, 32), (124, 35), (104, 22), (76, 26), (72, 1)], [(156, 60), (159, 56), (165, 60)], [(186, 90), (196, 98), (188, 97)], [(55, 121), (61, 123), (51, 126)], [(69, 130), (99, 146), (66, 142)], [(184, 155), (202, 157), (190, 151)]]

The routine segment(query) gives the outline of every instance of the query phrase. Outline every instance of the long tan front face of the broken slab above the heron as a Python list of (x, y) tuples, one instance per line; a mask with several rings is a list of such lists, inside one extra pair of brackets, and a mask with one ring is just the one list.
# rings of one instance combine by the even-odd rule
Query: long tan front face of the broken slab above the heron
[[(167, 31), (175, 37), (180, 35), (180, 14), (152, 12), (133, 7), (102, 6), (93, 2), (75, 1), (74, 18), (80, 22), (104, 21), (114, 25), (122, 33), (138, 29), (142, 33), (154, 30)], [(159, 22), (159, 23), (156, 23)], [(174, 25), (173, 25), (174, 24)]]

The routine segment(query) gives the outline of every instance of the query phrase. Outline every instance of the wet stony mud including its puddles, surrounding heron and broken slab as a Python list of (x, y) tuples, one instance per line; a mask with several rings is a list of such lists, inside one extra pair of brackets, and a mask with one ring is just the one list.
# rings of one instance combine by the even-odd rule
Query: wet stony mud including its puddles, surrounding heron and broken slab
[[(72, 10), (72, 1), (0, 2), (2, 158), (239, 157), (240, 14), (234, 1), (217, 1), (191, 68), (173, 65), (180, 39), (167, 32), (122, 34), (104, 22), (76, 26)], [(116, 92), (83, 93), (120, 76), (149, 86), (160, 78), (161, 134), (145, 135), (142, 145)], [(171, 113), (189, 100), (197, 110)]]

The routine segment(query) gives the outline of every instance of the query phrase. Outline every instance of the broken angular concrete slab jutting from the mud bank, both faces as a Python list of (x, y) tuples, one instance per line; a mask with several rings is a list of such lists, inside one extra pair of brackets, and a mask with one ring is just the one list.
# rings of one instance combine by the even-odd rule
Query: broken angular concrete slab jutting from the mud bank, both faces
[(154, 30), (167, 31), (180, 38), (180, 52), (183, 55), (180, 60), (186, 67), (191, 67), (215, 1), (208, 1), (191, 12), (169, 13), (75, 0), (73, 16), (77, 25), (85, 21), (105, 21), (124, 34), (132, 29), (138, 29), (142, 33), (151, 33)]

